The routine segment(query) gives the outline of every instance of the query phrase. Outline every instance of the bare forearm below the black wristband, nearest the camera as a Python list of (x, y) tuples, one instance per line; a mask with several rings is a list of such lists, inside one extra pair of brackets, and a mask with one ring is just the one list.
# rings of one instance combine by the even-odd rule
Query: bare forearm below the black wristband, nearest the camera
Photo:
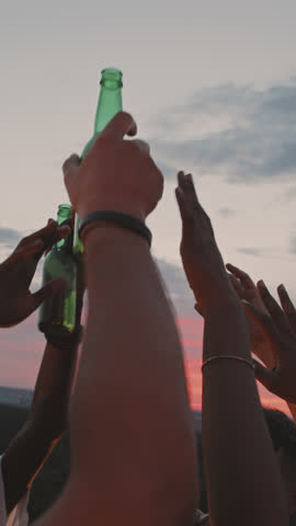
[(101, 232), (89, 233), (87, 245), (89, 319), (71, 404), (73, 470), (81, 480), (91, 477), (98, 506), (111, 496), (133, 501), (133, 513), (145, 508), (153, 524), (160, 516), (167, 524), (197, 504), (180, 341), (146, 241), (115, 228)]

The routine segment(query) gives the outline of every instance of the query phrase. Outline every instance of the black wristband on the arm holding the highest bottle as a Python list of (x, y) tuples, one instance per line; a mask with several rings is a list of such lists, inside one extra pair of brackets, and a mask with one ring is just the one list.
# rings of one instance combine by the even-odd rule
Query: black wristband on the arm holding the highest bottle
[(121, 211), (111, 211), (111, 210), (98, 210), (88, 214), (81, 221), (79, 227), (79, 237), (81, 239), (82, 230), (93, 221), (109, 221), (114, 222), (115, 225), (119, 225), (127, 230), (133, 230), (134, 232), (138, 233), (143, 238), (146, 239), (149, 247), (151, 247), (152, 235), (146, 225), (136, 219), (133, 216), (128, 216), (127, 214), (122, 214)]

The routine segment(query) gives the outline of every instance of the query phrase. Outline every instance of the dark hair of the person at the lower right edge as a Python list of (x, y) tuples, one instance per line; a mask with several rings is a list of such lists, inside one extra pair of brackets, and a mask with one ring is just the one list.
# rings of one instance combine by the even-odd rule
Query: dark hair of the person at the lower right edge
[(275, 451), (283, 449), (288, 456), (296, 457), (296, 423), (277, 409), (263, 408), (265, 421)]

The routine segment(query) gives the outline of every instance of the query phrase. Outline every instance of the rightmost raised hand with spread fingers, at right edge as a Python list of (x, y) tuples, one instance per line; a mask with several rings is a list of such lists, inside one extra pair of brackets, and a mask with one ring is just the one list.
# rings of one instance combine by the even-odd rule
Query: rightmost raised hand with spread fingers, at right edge
[(270, 343), (275, 366), (269, 369), (255, 362), (255, 376), (269, 391), (295, 404), (296, 311), (283, 285), (277, 287), (282, 308), (262, 281), (258, 284), (258, 290), (269, 315), (251, 304), (246, 304), (246, 309)]

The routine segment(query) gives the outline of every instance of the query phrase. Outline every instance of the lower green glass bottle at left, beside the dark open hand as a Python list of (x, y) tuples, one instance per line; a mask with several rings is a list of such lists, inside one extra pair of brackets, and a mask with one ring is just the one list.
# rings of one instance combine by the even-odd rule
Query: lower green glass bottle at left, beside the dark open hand
[[(71, 225), (72, 207), (59, 205), (57, 222)], [(43, 266), (43, 285), (59, 277), (68, 279), (68, 287), (44, 301), (39, 309), (38, 328), (48, 336), (67, 336), (76, 321), (77, 263), (72, 255), (72, 232), (59, 240), (48, 252)]]

